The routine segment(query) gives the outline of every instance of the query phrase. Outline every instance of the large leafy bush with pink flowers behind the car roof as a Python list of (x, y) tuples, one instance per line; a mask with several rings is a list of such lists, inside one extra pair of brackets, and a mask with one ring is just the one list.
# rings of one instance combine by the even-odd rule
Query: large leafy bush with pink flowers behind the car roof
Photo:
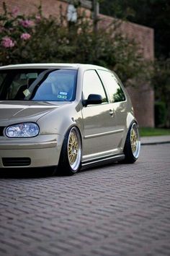
[[(79, 8), (78, 8), (79, 9)], [(138, 45), (113, 24), (108, 30), (93, 30), (93, 23), (78, 10), (78, 21), (68, 22), (60, 10), (55, 17), (37, 14), (25, 16), (4, 4), (0, 16), (0, 64), (80, 62), (114, 69), (126, 85), (134, 77), (144, 77), (145, 65)]]

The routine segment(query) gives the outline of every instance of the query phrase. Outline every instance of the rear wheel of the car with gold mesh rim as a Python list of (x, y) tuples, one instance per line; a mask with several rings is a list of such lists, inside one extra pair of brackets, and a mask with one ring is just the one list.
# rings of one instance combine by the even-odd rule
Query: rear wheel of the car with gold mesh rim
[(140, 136), (138, 124), (133, 122), (128, 130), (124, 147), (125, 163), (135, 163), (140, 153)]

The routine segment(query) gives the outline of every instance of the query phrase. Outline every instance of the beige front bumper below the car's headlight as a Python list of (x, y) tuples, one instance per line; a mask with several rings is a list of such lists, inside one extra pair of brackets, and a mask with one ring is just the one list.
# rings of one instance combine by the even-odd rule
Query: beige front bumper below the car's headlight
[[(0, 137), (0, 168), (57, 166), (62, 143), (61, 135), (15, 139)], [(29, 160), (27, 164), (24, 159)]]

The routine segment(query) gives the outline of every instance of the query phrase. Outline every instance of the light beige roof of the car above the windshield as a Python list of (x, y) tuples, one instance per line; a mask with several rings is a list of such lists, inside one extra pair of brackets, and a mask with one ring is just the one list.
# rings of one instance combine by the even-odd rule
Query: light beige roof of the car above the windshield
[[(69, 64), (69, 63), (35, 63), (35, 64), (15, 64), (15, 65), (8, 65), (8, 66), (1, 66), (0, 70), (2, 69), (56, 69), (56, 68), (63, 68), (63, 69), (105, 69), (104, 67), (92, 65), (92, 64)], [(108, 69), (105, 69), (108, 70)]]

